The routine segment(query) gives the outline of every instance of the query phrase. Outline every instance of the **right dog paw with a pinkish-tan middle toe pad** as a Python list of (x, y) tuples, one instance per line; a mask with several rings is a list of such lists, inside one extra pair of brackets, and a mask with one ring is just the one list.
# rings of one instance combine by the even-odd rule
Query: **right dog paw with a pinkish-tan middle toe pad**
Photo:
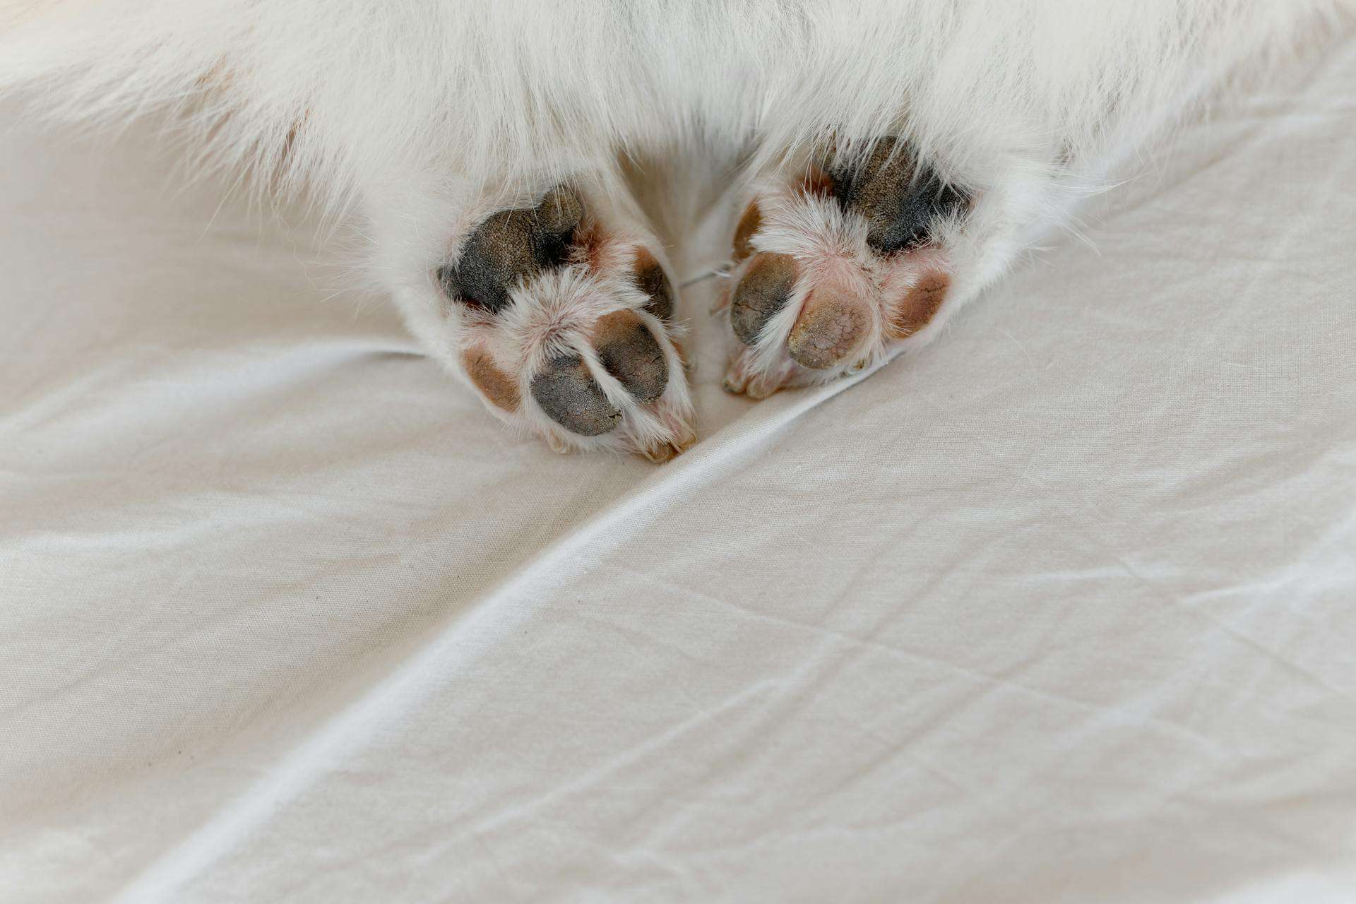
[(894, 138), (831, 149), (755, 183), (717, 308), (736, 344), (725, 389), (763, 398), (926, 340), (952, 285), (970, 195)]

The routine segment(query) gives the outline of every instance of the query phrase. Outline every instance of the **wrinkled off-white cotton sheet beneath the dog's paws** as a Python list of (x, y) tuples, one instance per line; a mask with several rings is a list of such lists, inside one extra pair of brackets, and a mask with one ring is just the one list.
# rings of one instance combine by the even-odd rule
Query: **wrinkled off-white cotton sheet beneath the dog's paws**
[(662, 468), (9, 111), (0, 901), (1356, 900), (1353, 98), (1216, 110), (856, 385), (724, 396), (690, 286)]

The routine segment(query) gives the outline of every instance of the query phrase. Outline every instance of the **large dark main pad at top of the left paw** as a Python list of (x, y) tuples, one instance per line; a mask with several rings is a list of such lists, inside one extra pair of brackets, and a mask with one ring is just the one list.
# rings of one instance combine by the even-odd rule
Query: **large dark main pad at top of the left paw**
[(438, 282), (449, 298), (498, 313), (515, 285), (565, 263), (580, 220), (583, 205), (564, 187), (536, 207), (491, 214), (471, 232), (457, 266), (438, 268)]

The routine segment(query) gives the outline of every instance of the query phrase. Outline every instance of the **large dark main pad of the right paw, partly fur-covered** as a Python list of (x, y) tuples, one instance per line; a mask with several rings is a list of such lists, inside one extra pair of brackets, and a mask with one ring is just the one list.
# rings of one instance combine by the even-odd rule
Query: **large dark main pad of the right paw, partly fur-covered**
[(934, 220), (970, 205), (896, 138), (881, 138), (864, 157), (839, 157), (829, 175), (838, 205), (866, 220), (866, 244), (883, 253), (926, 244)]

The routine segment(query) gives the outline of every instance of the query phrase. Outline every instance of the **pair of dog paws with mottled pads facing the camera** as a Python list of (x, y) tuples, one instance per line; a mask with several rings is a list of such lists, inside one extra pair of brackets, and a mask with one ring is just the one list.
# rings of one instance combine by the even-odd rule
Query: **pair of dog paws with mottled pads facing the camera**
[[(751, 183), (731, 230), (724, 386), (765, 398), (866, 367), (940, 323), (972, 197), (903, 141), (829, 148)], [(435, 278), (461, 373), (556, 451), (666, 461), (697, 438), (663, 249), (582, 184), (490, 213)]]

